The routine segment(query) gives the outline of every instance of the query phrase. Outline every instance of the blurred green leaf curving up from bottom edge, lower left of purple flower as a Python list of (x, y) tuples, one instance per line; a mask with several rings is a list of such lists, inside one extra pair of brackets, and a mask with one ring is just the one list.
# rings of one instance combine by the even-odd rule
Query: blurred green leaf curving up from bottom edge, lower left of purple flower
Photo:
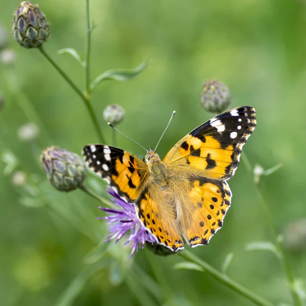
[(69, 306), (82, 292), (88, 279), (100, 269), (107, 267), (109, 262), (107, 260), (100, 261), (98, 264), (86, 266), (85, 269), (74, 279), (68, 287), (62, 292), (60, 297), (55, 303), (55, 306)]

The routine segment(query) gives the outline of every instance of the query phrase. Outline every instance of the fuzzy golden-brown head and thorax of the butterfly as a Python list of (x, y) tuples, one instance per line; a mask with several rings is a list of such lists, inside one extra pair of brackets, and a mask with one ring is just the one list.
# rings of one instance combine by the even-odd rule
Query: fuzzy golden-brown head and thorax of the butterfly
[(167, 186), (170, 174), (166, 165), (161, 161), (159, 155), (154, 151), (148, 151), (145, 162), (151, 174), (152, 181), (160, 186)]

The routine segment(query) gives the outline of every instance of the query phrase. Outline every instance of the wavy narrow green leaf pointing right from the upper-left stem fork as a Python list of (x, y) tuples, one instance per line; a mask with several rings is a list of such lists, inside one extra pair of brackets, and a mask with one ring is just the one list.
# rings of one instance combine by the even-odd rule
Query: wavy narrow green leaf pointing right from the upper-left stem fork
[(149, 60), (143, 61), (135, 69), (112, 69), (100, 74), (90, 85), (90, 91), (93, 91), (96, 86), (105, 80), (129, 81), (137, 77), (148, 65)]

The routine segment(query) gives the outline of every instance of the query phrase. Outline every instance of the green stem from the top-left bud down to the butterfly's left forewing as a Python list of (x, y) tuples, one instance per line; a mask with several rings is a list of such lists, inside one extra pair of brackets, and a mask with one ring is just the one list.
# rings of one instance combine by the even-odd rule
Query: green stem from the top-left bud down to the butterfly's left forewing
[(88, 97), (88, 94), (85, 93), (83, 94), (81, 92), (81, 90), (77, 87), (77, 85), (75, 85), (73, 83), (73, 81), (68, 77), (68, 75), (57, 65), (57, 63), (49, 57), (49, 55), (45, 52), (45, 49), (40, 46), (38, 47), (41, 54), (50, 62), (50, 64), (52, 64), (52, 66), (62, 75), (62, 77), (66, 80), (66, 82), (71, 86), (71, 88), (81, 97), (81, 99), (84, 101), (85, 103), (85, 106), (87, 108), (87, 111), (89, 112), (89, 116), (93, 122), (93, 125), (94, 125), (94, 128), (95, 128), (95, 131), (99, 137), (99, 141), (102, 142), (102, 143), (105, 143), (105, 140), (104, 140), (104, 137), (102, 135), (102, 132), (100, 130), (100, 127), (99, 127), (99, 124), (98, 124), (98, 121), (97, 121), (97, 118), (93, 112), (93, 109), (91, 107), (91, 103), (90, 103), (90, 100), (89, 100), (89, 97)]

